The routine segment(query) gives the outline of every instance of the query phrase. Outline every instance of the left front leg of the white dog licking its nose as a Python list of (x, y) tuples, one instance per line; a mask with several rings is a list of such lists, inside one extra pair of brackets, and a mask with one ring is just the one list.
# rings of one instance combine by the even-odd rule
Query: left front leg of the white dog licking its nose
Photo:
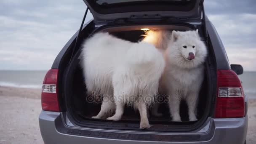
[(175, 93), (169, 95), (169, 108), (172, 116), (172, 121), (181, 122), (181, 116), (179, 115), (179, 105), (181, 102), (181, 96)]

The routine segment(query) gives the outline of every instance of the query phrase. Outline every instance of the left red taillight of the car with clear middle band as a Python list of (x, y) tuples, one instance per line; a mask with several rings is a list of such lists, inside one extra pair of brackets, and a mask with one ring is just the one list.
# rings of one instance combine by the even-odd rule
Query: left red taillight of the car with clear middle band
[(57, 79), (58, 69), (50, 69), (45, 75), (41, 95), (43, 110), (60, 112), (57, 95)]

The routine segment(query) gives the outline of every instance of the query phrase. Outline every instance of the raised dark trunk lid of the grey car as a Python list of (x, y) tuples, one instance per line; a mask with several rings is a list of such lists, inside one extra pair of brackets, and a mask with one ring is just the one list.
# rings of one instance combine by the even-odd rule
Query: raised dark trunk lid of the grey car
[(118, 20), (200, 21), (203, 0), (83, 0), (96, 23)]

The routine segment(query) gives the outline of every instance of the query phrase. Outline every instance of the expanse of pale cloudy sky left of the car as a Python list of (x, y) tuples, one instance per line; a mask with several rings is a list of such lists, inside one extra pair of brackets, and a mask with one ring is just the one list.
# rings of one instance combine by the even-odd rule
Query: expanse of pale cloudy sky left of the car
[(0, 69), (50, 69), (79, 29), (85, 9), (82, 0), (2, 0)]

